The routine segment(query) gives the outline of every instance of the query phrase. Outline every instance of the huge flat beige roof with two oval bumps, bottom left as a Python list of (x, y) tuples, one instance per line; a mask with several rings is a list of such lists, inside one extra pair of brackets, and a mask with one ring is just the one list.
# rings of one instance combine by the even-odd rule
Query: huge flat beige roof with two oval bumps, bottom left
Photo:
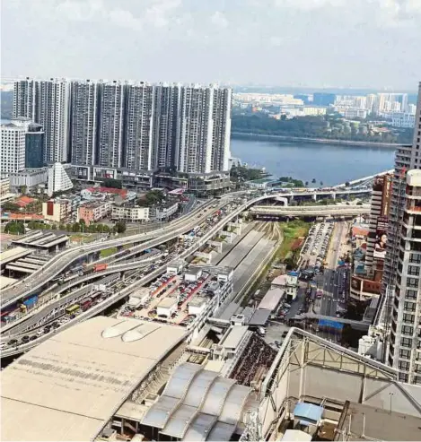
[(51, 337), (2, 373), (2, 440), (92, 440), (184, 336), (97, 316)]

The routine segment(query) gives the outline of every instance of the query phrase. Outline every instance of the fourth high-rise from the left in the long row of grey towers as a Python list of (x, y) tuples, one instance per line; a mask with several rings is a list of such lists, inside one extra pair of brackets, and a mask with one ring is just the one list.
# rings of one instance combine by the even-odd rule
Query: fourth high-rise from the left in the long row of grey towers
[(104, 82), (100, 102), (98, 165), (119, 168), (123, 161), (126, 82)]

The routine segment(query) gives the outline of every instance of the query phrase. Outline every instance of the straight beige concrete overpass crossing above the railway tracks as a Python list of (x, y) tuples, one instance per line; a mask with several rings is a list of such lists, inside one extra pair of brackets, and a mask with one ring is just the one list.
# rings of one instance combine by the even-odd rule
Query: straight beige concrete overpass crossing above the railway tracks
[(370, 213), (370, 204), (307, 206), (256, 205), (250, 207), (250, 213), (262, 216), (355, 216)]

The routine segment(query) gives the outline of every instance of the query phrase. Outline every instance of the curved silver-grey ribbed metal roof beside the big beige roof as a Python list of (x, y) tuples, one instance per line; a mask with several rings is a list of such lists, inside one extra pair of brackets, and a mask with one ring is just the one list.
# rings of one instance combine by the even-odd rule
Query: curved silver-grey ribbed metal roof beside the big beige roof
[(245, 404), (253, 408), (253, 402), (247, 402), (251, 389), (201, 368), (189, 363), (176, 368), (142, 423), (172, 438), (202, 441), (213, 434), (213, 440), (229, 440)]

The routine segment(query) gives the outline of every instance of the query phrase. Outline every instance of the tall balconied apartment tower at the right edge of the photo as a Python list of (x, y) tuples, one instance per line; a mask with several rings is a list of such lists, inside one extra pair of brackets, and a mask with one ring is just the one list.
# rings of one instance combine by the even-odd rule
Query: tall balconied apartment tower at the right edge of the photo
[[(421, 378), (416, 372), (418, 368), (415, 364), (419, 353), (416, 357), (414, 355), (417, 352), (417, 346), (420, 346), (421, 286), (417, 267), (418, 260), (421, 260), (420, 239), (418, 238), (421, 225), (418, 214), (421, 212), (418, 207), (421, 206), (421, 178), (419, 171), (414, 169), (421, 169), (421, 82), (412, 147), (399, 146), (396, 152), (388, 247), (382, 281), (382, 311), (385, 312), (382, 315), (382, 322), (386, 327), (391, 325), (390, 330), (386, 331), (389, 345), (385, 361), (399, 368), (401, 379), (419, 383)], [(408, 175), (407, 178), (405, 178), (406, 175)], [(412, 308), (415, 308), (415, 312), (405, 311)], [(403, 315), (409, 316), (404, 318)], [(404, 324), (407, 322), (412, 325)]]

